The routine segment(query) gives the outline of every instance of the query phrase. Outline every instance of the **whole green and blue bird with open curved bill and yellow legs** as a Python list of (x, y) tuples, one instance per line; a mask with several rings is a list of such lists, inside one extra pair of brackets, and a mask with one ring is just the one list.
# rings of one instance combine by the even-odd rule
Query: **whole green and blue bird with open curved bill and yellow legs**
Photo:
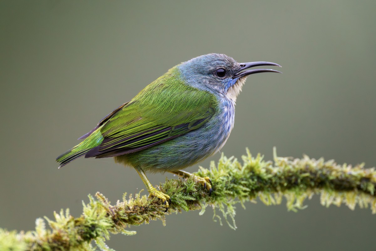
[(224, 54), (211, 53), (182, 62), (147, 85), (129, 102), (109, 113), (81, 143), (56, 158), (59, 168), (78, 157), (114, 157), (132, 166), (145, 184), (149, 197), (162, 200), (166, 211), (169, 195), (152, 186), (146, 172), (171, 172), (193, 176), (208, 189), (209, 177), (183, 171), (218, 152), (234, 125), (235, 102), (247, 77), (280, 71), (253, 68), (272, 62), (239, 63)]

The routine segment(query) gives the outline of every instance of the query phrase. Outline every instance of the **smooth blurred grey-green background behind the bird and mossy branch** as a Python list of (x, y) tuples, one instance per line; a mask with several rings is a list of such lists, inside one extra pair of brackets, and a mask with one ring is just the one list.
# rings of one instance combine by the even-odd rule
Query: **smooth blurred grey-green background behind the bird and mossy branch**
[[(144, 189), (134, 169), (55, 157), (174, 65), (206, 53), (271, 61), (283, 74), (248, 78), (222, 151), (334, 158), (376, 166), (375, 1), (1, 1), (0, 227), (34, 229), (100, 191), (112, 202)], [(216, 154), (200, 165), (217, 161)], [(188, 171), (197, 170), (197, 166)], [(152, 184), (170, 174), (149, 175)], [(146, 194), (146, 192), (144, 192)], [(237, 207), (236, 231), (212, 212), (167, 216), (113, 235), (117, 250), (374, 250), (369, 209), (320, 205), (297, 213)]]

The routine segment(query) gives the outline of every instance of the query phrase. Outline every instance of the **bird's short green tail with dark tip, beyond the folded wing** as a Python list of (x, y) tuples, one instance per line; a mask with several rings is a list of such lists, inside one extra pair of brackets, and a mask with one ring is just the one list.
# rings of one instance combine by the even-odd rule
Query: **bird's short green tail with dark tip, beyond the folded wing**
[(103, 136), (100, 133), (100, 128), (98, 128), (77, 146), (74, 146), (72, 149), (56, 158), (56, 161), (59, 162), (59, 168), (65, 166), (83, 154), (86, 154), (90, 149), (99, 146), (102, 141)]

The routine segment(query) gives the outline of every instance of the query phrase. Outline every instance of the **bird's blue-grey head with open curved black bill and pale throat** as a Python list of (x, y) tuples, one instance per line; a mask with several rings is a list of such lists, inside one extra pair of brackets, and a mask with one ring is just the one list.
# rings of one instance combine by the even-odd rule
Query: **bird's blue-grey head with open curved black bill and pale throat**
[(247, 76), (260, 72), (278, 72), (272, 69), (249, 69), (262, 65), (279, 64), (272, 62), (238, 63), (224, 54), (211, 53), (198, 56), (177, 65), (187, 84), (201, 90), (222, 94), (236, 101)]

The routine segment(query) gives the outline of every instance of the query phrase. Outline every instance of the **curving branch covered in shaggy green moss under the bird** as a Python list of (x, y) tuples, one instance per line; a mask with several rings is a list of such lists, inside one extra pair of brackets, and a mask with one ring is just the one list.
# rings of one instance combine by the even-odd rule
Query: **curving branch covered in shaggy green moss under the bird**
[(214, 209), (214, 216), (221, 221), (216, 210), (221, 211), (231, 228), (236, 228), (234, 204), (253, 201), (257, 197), (266, 205), (276, 205), (287, 199), (288, 210), (304, 208), (303, 201), (314, 194), (321, 194), (321, 204), (329, 207), (346, 204), (350, 209), (355, 205), (370, 206), (376, 213), (376, 172), (374, 168), (364, 169), (364, 164), (352, 167), (338, 165), (333, 160), (324, 161), (277, 157), (274, 149), (274, 163), (264, 161), (259, 154), (252, 157), (247, 150), (243, 164), (236, 158), (221, 156), (217, 166), (210, 169), (200, 167), (198, 176), (209, 176), (213, 192), (195, 184), (192, 179), (166, 180), (159, 188), (171, 196), (172, 203), (167, 213), (158, 199), (147, 199), (140, 193), (123, 195), (122, 201), (111, 205), (99, 192), (96, 199), (89, 195), (89, 203), (83, 204), (83, 213), (74, 218), (69, 210), (55, 212), (55, 220), (45, 217), (36, 220), (36, 230), (24, 233), (0, 229), (0, 250), (95, 250), (94, 240), (101, 250), (112, 250), (105, 244), (110, 233), (135, 234), (126, 228), (160, 219), (165, 224), (165, 215), (180, 211), (201, 210), (207, 206)]

